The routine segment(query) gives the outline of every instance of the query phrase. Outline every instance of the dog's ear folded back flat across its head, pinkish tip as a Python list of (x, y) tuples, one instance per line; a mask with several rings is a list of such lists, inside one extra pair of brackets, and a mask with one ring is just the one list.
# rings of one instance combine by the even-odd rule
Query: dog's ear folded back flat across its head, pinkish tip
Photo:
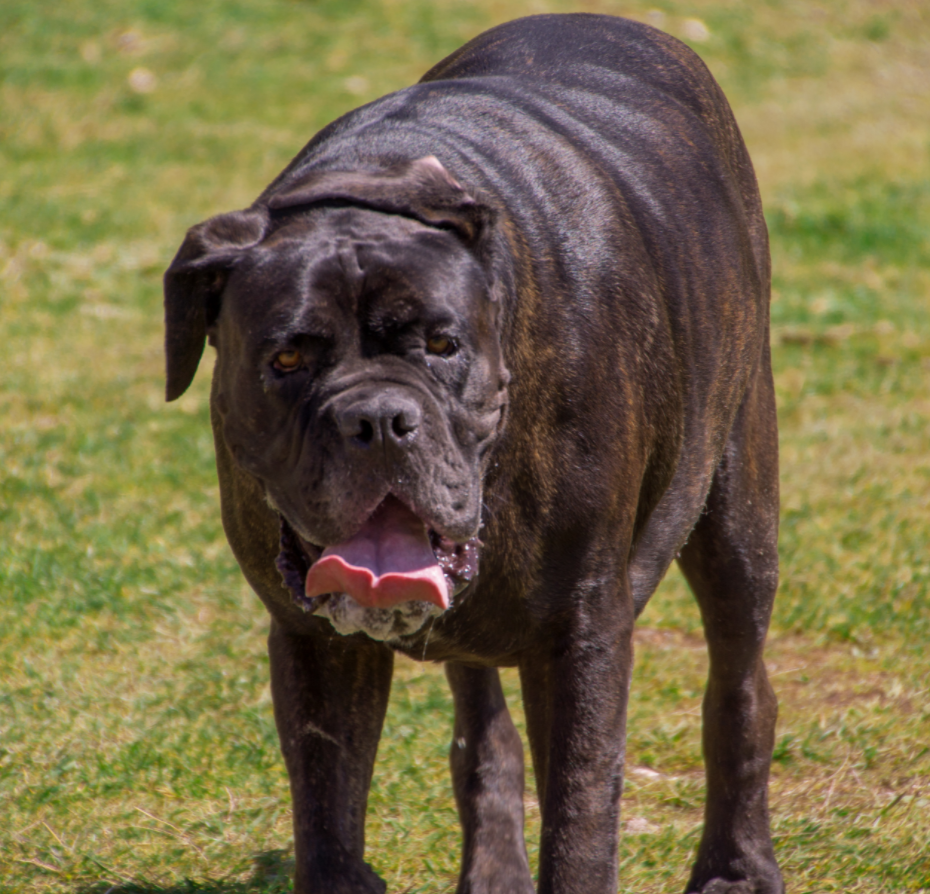
[(493, 209), (469, 195), (434, 155), (380, 171), (310, 171), (265, 201), (272, 213), (347, 202), (401, 214), (453, 230), (479, 256), (495, 220)]

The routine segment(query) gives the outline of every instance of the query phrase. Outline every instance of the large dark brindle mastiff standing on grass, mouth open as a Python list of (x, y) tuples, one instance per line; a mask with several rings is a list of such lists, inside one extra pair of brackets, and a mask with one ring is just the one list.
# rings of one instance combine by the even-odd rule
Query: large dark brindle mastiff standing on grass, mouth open
[(271, 613), (296, 889), (376, 892), (394, 651), (455, 699), (459, 892), (617, 889), (631, 636), (673, 559), (700, 603), (707, 806), (688, 891), (783, 890), (762, 648), (777, 581), (769, 256), (730, 109), (685, 46), (503, 25), (319, 133), (165, 276), (168, 399), (217, 349), (223, 523)]

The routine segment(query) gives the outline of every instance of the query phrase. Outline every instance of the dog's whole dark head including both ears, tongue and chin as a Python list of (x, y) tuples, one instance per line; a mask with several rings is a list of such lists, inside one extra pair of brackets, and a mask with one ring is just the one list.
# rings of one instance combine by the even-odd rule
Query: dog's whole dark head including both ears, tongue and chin
[(165, 274), (168, 399), (209, 338), (279, 568), (342, 632), (411, 633), (476, 570), (508, 381), (493, 244), (491, 210), (429, 157), (311, 173), (193, 227)]

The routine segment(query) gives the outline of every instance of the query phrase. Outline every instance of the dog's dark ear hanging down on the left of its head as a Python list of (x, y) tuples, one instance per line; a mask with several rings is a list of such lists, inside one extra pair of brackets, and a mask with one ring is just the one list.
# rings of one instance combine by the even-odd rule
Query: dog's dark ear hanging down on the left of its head
[(236, 260), (262, 241), (263, 208), (231, 211), (191, 227), (165, 271), (165, 364), (168, 400), (194, 380), (207, 329), (220, 312), (220, 295)]

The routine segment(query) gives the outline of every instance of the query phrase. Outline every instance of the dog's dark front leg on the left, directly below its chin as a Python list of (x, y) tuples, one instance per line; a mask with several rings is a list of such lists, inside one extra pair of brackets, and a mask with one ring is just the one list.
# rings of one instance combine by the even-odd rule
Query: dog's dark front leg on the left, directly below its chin
[(294, 805), (297, 894), (382, 894), (364, 862), (365, 808), (394, 655), (361, 636), (268, 637), (271, 692)]

